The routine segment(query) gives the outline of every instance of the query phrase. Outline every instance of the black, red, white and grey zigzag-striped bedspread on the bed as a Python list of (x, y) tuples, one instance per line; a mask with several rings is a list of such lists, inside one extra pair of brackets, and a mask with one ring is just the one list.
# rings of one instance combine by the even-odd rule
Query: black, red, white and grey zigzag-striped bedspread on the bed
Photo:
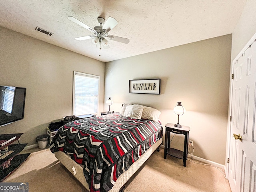
[(52, 153), (63, 151), (84, 165), (91, 192), (109, 191), (116, 179), (163, 136), (160, 122), (119, 113), (70, 122), (53, 138)]

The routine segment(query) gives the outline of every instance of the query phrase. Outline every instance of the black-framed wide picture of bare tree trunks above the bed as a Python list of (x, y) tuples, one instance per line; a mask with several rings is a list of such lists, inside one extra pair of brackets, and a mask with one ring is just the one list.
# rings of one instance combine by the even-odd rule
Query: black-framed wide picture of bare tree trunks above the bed
[(129, 92), (160, 94), (160, 79), (129, 80)]

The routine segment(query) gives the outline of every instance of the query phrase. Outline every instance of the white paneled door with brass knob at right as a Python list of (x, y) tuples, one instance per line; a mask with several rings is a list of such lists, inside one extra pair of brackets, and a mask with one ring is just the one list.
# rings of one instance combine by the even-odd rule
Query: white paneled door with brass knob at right
[[(256, 192), (256, 42), (251, 43), (233, 62), (228, 167), (232, 192)], [(233, 134), (240, 134), (242, 141)]]

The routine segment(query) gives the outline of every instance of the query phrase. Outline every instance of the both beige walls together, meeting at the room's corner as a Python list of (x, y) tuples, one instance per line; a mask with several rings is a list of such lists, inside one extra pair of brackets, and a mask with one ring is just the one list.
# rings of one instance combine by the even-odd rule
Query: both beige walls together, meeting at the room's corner
[[(120, 111), (122, 102), (152, 106), (162, 112), (165, 125), (176, 123), (172, 109), (181, 101), (186, 113), (180, 123), (191, 127), (194, 155), (224, 164), (231, 39), (221, 36), (106, 63), (104, 98), (113, 99), (110, 110)], [(24, 119), (0, 127), (0, 134), (23, 132), (20, 142), (35, 144), (49, 122), (71, 115), (74, 70), (100, 76), (103, 111), (103, 62), (1, 27), (0, 42), (0, 84), (27, 88)], [(161, 78), (161, 94), (129, 94), (129, 80), (144, 78)], [(172, 144), (182, 149), (182, 141), (178, 135)]]

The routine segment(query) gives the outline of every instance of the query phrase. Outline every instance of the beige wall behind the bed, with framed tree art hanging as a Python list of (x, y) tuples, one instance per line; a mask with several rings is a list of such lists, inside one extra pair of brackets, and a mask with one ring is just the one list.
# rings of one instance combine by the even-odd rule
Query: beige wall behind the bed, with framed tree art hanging
[[(177, 122), (173, 108), (182, 102), (194, 155), (225, 164), (231, 42), (230, 34), (108, 62), (104, 98), (116, 112), (122, 102), (157, 108), (163, 125)], [(161, 79), (160, 95), (129, 93), (129, 80), (148, 78)], [(182, 150), (183, 140), (176, 135), (171, 145)]]

